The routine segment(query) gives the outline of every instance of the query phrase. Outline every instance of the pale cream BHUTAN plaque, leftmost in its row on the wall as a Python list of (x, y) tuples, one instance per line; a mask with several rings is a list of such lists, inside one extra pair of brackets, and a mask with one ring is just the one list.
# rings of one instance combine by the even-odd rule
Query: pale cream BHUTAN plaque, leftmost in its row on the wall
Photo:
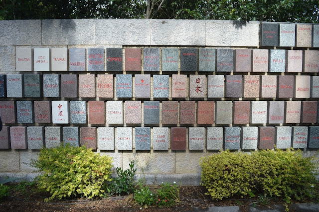
[(32, 49), (15, 48), (15, 71), (32, 71)]

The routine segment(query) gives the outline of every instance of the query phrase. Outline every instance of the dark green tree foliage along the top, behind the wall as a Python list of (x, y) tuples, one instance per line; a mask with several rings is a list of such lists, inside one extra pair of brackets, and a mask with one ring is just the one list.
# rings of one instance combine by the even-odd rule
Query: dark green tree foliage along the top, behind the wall
[(318, 0), (1, 0), (0, 19), (175, 18), (319, 22)]

